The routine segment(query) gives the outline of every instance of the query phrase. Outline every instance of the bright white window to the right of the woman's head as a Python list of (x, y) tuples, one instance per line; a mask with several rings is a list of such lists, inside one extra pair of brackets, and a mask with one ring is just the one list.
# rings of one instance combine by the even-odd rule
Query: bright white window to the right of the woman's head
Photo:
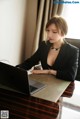
[(80, 4), (64, 4), (62, 16), (68, 23), (68, 38), (80, 39)]

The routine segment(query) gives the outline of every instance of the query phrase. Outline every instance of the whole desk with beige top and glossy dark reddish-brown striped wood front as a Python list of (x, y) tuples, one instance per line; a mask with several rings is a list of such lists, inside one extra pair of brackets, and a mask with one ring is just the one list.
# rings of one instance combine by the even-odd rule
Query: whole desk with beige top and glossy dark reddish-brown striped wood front
[(70, 82), (52, 75), (29, 75), (47, 86), (32, 96), (0, 89), (0, 110), (9, 110), (10, 119), (56, 119), (60, 98)]

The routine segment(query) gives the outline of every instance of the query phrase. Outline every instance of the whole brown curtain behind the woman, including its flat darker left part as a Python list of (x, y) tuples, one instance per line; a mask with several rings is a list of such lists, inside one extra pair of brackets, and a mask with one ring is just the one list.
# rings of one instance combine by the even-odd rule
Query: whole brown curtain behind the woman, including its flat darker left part
[[(32, 0), (29, 0), (32, 1)], [(45, 33), (45, 25), (47, 21), (53, 17), (55, 14), (60, 15), (62, 12), (63, 5), (59, 4), (59, 1), (62, 0), (57, 0), (58, 3), (55, 3), (54, 0), (33, 0), (34, 4), (36, 4), (36, 16), (34, 15), (33, 19), (33, 14), (34, 14), (34, 6), (29, 8), (29, 11), (32, 10), (33, 8), (33, 13), (28, 14), (28, 22), (27, 22), (27, 57), (30, 57), (38, 48), (42, 40), (46, 40), (46, 33)], [(30, 4), (30, 2), (29, 2)], [(30, 19), (29, 19), (30, 17)], [(33, 23), (31, 24), (35, 27), (30, 29), (30, 20), (33, 20)], [(32, 21), (31, 20), (31, 21)], [(31, 31), (33, 30), (33, 37), (31, 36)], [(30, 46), (30, 47), (29, 47)], [(28, 51), (30, 49), (30, 51)]]

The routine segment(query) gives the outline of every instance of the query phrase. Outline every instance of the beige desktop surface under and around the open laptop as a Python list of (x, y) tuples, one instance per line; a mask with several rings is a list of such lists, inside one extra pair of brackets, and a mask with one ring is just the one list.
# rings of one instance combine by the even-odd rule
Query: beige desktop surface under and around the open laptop
[(29, 75), (29, 78), (46, 84), (45, 88), (36, 92), (32, 96), (38, 97), (44, 100), (52, 101), (52, 102), (57, 102), (60, 96), (65, 91), (65, 89), (71, 83), (70, 81), (57, 79), (52, 75), (31, 74)]

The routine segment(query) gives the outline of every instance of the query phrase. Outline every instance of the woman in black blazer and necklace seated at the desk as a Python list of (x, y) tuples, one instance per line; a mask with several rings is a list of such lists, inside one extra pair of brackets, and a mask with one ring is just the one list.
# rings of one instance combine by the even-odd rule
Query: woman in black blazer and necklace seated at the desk
[(34, 74), (52, 74), (59, 79), (74, 81), (78, 68), (78, 48), (65, 40), (68, 26), (60, 16), (54, 16), (46, 24), (47, 41), (42, 41), (38, 50), (20, 68), (29, 70), (41, 62), (42, 70), (32, 70)]

